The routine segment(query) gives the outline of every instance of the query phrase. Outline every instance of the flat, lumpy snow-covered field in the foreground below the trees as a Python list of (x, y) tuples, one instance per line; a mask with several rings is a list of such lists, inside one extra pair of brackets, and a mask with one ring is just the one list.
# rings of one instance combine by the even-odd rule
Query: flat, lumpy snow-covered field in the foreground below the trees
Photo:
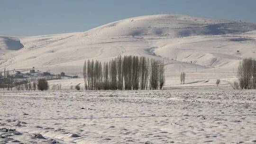
[(256, 91), (1, 92), (0, 143), (7, 142), (255, 144)]

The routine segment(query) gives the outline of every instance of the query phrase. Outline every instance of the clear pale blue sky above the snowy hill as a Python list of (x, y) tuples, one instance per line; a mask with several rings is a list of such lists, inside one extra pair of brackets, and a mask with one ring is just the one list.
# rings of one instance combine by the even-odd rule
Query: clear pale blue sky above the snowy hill
[(0, 35), (82, 32), (119, 19), (152, 14), (256, 23), (256, 0), (0, 0)]

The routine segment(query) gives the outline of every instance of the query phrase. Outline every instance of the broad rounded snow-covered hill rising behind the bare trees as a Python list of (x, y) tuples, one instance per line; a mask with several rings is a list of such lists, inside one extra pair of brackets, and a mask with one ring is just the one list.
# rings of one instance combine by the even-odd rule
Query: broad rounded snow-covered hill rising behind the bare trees
[(179, 67), (231, 70), (242, 58), (256, 58), (255, 52), (254, 23), (152, 15), (119, 20), (81, 33), (0, 36), (0, 71), (34, 66), (53, 72), (81, 72), (85, 59), (106, 61), (129, 54), (176, 63), (168, 65), (167, 72)]

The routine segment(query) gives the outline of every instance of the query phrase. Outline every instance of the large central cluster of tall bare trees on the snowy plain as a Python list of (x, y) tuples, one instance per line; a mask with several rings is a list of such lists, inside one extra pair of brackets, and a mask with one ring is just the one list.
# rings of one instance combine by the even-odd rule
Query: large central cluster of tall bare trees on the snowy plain
[(85, 90), (157, 90), (165, 84), (164, 62), (141, 56), (118, 56), (107, 63), (84, 62)]

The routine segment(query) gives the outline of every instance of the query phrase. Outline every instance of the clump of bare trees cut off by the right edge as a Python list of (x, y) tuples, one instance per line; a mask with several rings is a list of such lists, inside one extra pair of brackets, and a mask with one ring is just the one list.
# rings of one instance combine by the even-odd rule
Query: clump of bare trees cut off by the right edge
[(256, 60), (243, 59), (238, 67), (238, 79), (241, 89), (256, 89)]

